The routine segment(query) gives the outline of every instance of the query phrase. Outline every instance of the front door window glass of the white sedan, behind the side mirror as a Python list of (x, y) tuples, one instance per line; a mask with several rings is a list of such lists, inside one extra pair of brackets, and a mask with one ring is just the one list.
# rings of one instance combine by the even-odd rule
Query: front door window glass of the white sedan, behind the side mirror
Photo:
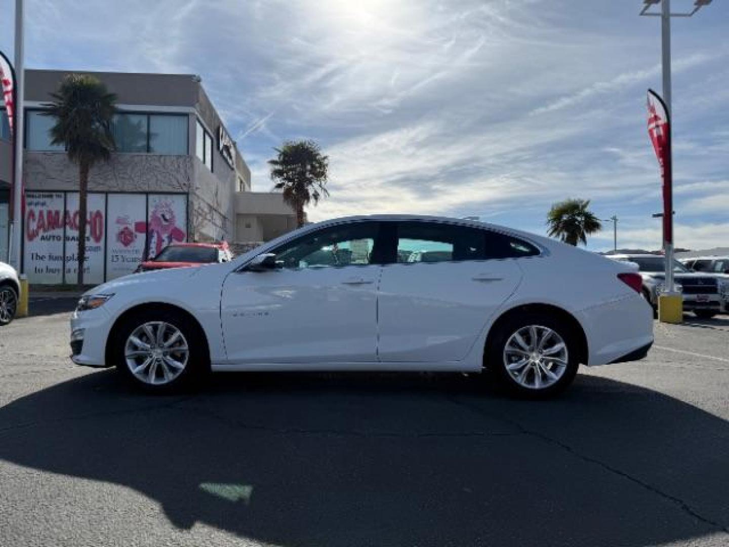
[(282, 268), (326, 268), (377, 263), (377, 222), (322, 228), (274, 249)]

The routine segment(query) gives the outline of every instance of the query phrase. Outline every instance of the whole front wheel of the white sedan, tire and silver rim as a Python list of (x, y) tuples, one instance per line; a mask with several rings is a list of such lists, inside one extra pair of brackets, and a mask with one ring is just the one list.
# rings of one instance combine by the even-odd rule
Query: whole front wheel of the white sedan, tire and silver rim
[(112, 341), (117, 370), (136, 387), (174, 392), (199, 383), (208, 371), (200, 327), (168, 310), (143, 311), (122, 321)]

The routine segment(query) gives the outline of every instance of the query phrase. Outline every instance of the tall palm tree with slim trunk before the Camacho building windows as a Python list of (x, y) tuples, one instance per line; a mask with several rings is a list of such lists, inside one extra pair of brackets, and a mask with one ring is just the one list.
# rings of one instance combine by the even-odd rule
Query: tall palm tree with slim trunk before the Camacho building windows
[(69, 74), (58, 90), (51, 93), (53, 101), (44, 104), (44, 115), (55, 118), (50, 129), (52, 144), (63, 144), (69, 160), (79, 166), (79, 241), (77, 282), (84, 283), (86, 260), (86, 222), (89, 170), (101, 160), (109, 160), (115, 148), (112, 120), (117, 111), (117, 96), (93, 76)]

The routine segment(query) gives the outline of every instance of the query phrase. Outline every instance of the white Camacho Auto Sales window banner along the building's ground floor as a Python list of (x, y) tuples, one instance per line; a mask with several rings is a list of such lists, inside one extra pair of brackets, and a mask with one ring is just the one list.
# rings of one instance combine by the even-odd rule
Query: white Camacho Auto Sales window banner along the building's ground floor
[[(26, 191), (23, 263), (35, 284), (75, 283), (79, 194)], [(85, 281), (99, 284), (132, 274), (149, 249), (187, 241), (187, 195), (90, 193)]]

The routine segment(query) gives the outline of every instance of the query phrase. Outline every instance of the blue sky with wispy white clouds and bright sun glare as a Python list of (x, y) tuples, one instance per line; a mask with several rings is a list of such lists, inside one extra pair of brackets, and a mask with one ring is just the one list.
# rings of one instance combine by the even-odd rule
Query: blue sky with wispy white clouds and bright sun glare
[[(0, 0), (0, 49), (12, 5)], [(319, 141), (343, 214), (477, 215), (536, 233), (554, 201), (660, 247), (645, 93), (660, 20), (639, 0), (26, 0), (28, 68), (200, 74), (247, 163)], [(674, 0), (674, 10), (693, 0)], [(729, 2), (674, 19), (676, 242), (729, 245)], [(612, 247), (612, 224), (590, 240)]]

